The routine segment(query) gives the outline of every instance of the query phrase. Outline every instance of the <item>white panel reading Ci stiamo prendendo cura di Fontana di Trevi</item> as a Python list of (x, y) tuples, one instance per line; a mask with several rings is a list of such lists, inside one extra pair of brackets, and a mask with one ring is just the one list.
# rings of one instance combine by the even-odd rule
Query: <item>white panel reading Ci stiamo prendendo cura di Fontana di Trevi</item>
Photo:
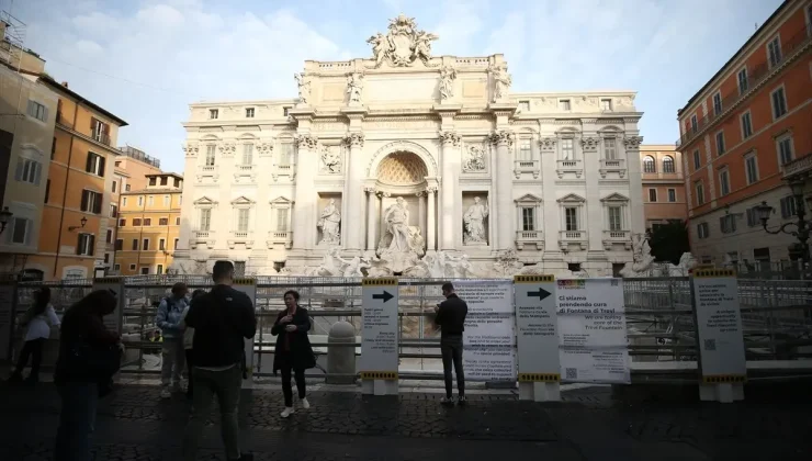
[(564, 382), (631, 383), (622, 279), (556, 282)]

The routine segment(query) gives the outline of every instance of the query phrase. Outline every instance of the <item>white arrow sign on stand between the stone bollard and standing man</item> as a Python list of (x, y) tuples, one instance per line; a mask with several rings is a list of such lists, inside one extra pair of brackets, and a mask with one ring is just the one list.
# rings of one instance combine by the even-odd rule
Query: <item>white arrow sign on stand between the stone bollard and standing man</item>
[(397, 394), (399, 339), (397, 279), (363, 279), (361, 285), (361, 392), (394, 395)]

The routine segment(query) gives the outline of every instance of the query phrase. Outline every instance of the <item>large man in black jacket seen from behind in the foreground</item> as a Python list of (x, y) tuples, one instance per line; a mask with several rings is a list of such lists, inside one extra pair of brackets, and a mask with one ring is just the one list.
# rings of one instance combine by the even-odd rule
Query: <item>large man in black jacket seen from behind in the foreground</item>
[(252, 461), (251, 454), (239, 450), (237, 411), (245, 339), (257, 333), (257, 317), (251, 299), (232, 288), (233, 263), (215, 262), (212, 278), (215, 286), (192, 300), (185, 318), (187, 327), (194, 328), (194, 395), (183, 438), (183, 459), (196, 459), (200, 436), (212, 414), (212, 400), (217, 395), (227, 459)]

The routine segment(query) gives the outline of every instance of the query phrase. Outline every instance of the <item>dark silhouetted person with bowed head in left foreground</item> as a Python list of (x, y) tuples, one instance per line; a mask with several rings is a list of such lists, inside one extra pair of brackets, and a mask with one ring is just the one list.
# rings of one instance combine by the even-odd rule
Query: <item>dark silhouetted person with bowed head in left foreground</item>
[(119, 334), (104, 326), (115, 311), (110, 290), (97, 290), (63, 316), (54, 383), (61, 400), (54, 461), (90, 461), (90, 437), (99, 398), (112, 391), (124, 347)]

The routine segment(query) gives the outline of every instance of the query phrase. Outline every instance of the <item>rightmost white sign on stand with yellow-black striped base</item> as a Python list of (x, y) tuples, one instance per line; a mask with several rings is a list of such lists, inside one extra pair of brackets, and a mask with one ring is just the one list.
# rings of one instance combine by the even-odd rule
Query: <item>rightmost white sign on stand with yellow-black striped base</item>
[(699, 397), (719, 402), (744, 400), (747, 362), (735, 272), (695, 270), (691, 280), (702, 375)]

